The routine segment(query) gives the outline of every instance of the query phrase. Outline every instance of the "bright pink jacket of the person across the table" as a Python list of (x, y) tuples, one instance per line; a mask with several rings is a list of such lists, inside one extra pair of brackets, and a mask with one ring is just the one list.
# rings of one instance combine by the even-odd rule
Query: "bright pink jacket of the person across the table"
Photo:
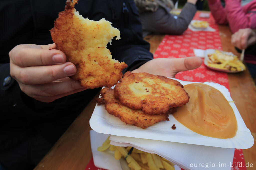
[(211, 13), (218, 24), (229, 24), (232, 33), (242, 28), (256, 29), (256, 0), (241, 6), (241, 0), (225, 0), (222, 7), (220, 0), (209, 0)]

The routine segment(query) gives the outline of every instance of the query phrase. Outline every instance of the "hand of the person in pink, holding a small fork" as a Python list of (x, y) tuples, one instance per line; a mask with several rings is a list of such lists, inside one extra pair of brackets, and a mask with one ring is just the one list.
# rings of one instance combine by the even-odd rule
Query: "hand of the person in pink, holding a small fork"
[(231, 43), (239, 49), (246, 49), (256, 43), (256, 33), (250, 29), (240, 29), (231, 36)]

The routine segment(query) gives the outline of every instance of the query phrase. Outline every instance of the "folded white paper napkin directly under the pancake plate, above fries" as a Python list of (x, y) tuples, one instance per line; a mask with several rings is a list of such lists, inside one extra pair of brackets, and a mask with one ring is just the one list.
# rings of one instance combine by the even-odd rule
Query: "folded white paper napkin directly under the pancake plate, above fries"
[(156, 153), (186, 170), (230, 170), (230, 164), (233, 163), (234, 148), (218, 148), (113, 135), (110, 136), (110, 140), (112, 145), (131, 146), (148, 153)]

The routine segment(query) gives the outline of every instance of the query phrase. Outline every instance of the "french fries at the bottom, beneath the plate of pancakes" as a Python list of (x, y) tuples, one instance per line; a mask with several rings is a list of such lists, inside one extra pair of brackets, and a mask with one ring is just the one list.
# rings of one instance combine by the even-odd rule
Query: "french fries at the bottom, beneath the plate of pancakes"
[(174, 170), (174, 164), (165, 158), (152, 153), (147, 153), (133, 148), (131, 154), (128, 152), (132, 147), (119, 147), (110, 144), (109, 137), (98, 147), (98, 151), (105, 151), (109, 148), (114, 151), (114, 158), (121, 159), (123, 156), (131, 170)]

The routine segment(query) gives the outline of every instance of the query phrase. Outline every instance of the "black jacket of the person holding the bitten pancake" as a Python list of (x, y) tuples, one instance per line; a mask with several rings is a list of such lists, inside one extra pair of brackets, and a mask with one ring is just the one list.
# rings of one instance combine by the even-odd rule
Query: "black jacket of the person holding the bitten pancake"
[[(23, 93), (10, 76), (8, 52), (18, 44), (52, 43), (49, 30), (66, 0), (0, 1), (0, 152), (13, 147), (29, 135), (40, 133), (55, 141), (73, 122), (99, 89), (85, 90), (51, 103), (42, 103)], [(105, 18), (120, 30), (121, 39), (108, 44), (113, 58), (133, 70), (153, 59), (150, 45), (142, 39), (142, 27), (132, 0), (80, 0), (75, 8), (91, 20)]]

